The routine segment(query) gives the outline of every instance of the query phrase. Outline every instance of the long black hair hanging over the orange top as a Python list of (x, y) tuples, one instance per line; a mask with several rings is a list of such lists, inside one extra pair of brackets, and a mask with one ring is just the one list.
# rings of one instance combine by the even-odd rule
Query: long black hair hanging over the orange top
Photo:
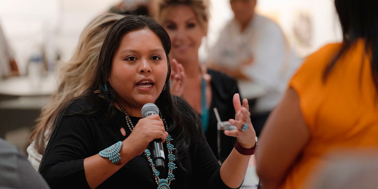
[(378, 1), (376, 0), (335, 0), (343, 31), (343, 43), (340, 50), (331, 60), (323, 75), (328, 75), (341, 58), (358, 39), (365, 41), (365, 53), (371, 54), (371, 74), (378, 92)]

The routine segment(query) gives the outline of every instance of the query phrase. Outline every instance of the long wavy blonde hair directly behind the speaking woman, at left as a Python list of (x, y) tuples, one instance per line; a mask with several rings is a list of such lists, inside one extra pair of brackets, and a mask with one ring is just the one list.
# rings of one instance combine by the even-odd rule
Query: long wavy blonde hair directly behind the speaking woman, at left
[(50, 103), (42, 108), (36, 128), (30, 136), (30, 142), (35, 142), (34, 148), (38, 153), (43, 154), (45, 151), (58, 111), (91, 84), (105, 36), (122, 17), (107, 13), (94, 18), (82, 31), (71, 59), (58, 65), (58, 87)]

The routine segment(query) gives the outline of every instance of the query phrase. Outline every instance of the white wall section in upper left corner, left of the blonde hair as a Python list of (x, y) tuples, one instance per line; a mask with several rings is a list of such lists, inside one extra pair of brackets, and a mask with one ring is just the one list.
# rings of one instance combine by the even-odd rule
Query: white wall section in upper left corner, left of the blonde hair
[(0, 24), (16, 54), (20, 72), (44, 44), (55, 47), (68, 60), (81, 30), (118, 0), (2, 0)]

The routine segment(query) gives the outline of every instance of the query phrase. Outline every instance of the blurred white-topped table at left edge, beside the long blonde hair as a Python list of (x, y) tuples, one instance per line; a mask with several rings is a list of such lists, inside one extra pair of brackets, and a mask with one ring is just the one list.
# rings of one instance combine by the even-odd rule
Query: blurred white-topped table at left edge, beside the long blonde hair
[(7, 132), (36, 124), (41, 109), (54, 91), (54, 75), (42, 77), (38, 83), (28, 77), (0, 80), (0, 137)]

